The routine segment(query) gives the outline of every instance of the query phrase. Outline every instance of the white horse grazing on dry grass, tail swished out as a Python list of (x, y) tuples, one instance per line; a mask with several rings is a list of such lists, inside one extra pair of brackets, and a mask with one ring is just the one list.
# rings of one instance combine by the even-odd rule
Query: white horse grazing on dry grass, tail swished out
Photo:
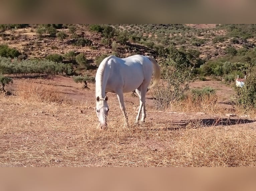
[[(153, 84), (149, 86), (154, 72)], [(136, 121), (145, 121), (145, 99), (147, 88), (152, 88), (159, 83), (160, 67), (156, 61), (149, 56), (134, 55), (128, 58), (118, 58), (109, 56), (105, 58), (96, 73), (96, 113), (99, 119), (99, 126), (103, 129), (107, 126), (107, 116), (109, 107), (107, 104), (108, 92), (117, 95), (120, 108), (123, 112), (125, 125), (128, 125), (128, 116), (125, 111), (123, 93), (136, 91), (140, 98), (139, 111)], [(141, 112), (142, 111), (142, 112)]]

